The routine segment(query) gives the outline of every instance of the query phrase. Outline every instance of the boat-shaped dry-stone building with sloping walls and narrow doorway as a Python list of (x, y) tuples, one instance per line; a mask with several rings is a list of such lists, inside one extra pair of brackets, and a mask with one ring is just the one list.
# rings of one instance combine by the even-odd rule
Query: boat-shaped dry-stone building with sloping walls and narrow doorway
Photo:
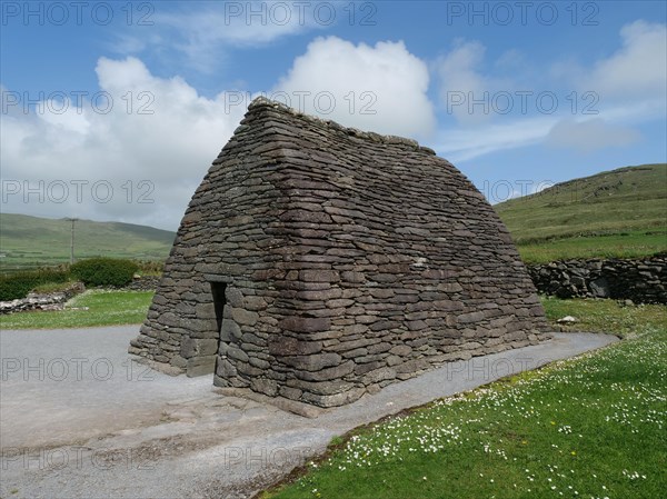
[(331, 407), (545, 330), (507, 229), (454, 166), (258, 99), (192, 197), (130, 352)]

